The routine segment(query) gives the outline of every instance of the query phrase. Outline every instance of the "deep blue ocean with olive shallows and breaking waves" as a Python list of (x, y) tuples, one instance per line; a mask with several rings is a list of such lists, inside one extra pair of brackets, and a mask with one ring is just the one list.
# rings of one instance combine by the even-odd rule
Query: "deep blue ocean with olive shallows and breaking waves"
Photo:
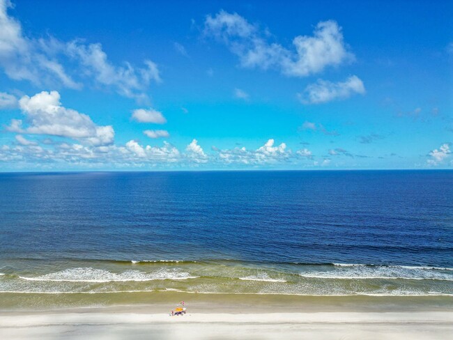
[(0, 173), (0, 309), (166, 293), (453, 295), (453, 171)]

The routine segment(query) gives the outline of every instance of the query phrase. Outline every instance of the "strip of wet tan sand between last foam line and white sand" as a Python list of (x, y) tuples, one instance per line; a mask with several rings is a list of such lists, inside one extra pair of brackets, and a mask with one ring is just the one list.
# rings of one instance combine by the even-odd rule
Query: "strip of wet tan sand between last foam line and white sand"
[[(33, 295), (33, 305), (31, 305)], [(109, 299), (109, 300), (107, 300)], [(49, 312), (108, 309), (128, 309), (162, 313), (184, 300), (197, 312), (215, 311), (236, 313), (244, 309), (252, 313), (293, 311), (453, 311), (450, 295), (259, 295), (208, 293), (96, 293), (41, 294), (0, 293), (0, 315), (15, 312)]]

